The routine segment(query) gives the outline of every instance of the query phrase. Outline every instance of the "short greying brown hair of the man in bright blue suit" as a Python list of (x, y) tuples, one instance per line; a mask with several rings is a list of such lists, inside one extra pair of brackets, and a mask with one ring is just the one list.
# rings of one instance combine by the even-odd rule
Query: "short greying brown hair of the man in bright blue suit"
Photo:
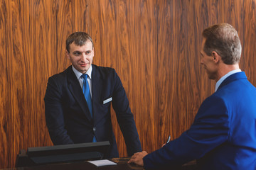
[(228, 23), (220, 23), (203, 30), (206, 38), (203, 51), (211, 55), (213, 51), (220, 55), (225, 64), (238, 63), (242, 53), (242, 46), (238, 32)]

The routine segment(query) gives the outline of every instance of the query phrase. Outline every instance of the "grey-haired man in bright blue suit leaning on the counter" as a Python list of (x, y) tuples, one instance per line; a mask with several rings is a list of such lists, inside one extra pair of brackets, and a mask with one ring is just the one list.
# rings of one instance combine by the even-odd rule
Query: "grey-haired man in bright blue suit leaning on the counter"
[(241, 72), (238, 33), (228, 23), (203, 30), (201, 64), (215, 93), (206, 98), (191, 128), (151, 154), (129, 163), (169, 168), (198, 159), (198, 169), (256, 169), (256, 89)]

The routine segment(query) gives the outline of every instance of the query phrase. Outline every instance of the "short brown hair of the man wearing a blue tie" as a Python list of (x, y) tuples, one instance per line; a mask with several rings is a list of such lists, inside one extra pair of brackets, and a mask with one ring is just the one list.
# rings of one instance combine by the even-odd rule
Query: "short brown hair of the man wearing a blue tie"
[[(90, 40), (90, 42), (92, 42), (92, 38), (90, 37), (89, 34), (84, 33), (84, 32), (75, 32), (72, 33), (68, 36), (67, 40), (66, 40), (66, 50), (68, 52), (70, 52), (70, 44), (72, 44), (72, 42), (75, 42), (75, 45), (85, 45), (85, 42), (87, 42), (88, 40)], [(92, 42), (92, 48), (93, 48), (93, 42)]]

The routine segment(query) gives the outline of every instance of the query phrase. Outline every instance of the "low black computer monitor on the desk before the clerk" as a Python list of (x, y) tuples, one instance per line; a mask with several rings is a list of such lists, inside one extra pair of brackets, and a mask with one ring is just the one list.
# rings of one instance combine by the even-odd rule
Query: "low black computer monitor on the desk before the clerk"
[(108, 141), (29, 147), (27, 152), (21, 150), (18, 154), (16, 167), (105, 159), (109, 148)]

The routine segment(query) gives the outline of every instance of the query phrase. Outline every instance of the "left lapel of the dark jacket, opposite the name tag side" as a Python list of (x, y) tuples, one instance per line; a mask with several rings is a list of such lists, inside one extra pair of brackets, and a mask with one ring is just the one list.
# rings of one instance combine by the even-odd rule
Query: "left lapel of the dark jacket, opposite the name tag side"
[(71, 66), (68, 68), (67, 79), (68, 79), (68, 89), (70, 90), (71, 94), (73, 95), (75, 100), (78, 102), (78, 104), (82, 108), (82, 112), (85, 113), (87, 119), (92, 120), (89, 108), (85, 101), (85, 96), (82, 94), (81, 86)]

